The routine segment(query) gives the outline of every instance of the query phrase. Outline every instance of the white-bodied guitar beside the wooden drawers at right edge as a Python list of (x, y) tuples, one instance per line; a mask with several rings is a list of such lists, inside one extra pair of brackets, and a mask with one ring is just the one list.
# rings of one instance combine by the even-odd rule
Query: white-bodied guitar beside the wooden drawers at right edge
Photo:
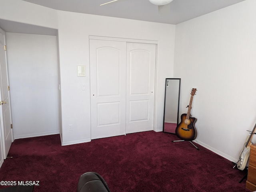
[(253, 128), (252, 132), (250, 133), (250, 135), (247, 137), (246, 143), (244, 144), (244, 148), (242, 150), (242, 153), (240, 154), (239, 160), (236, 163), (237, 168), (240, 170), (244, 170), (244, 168), (246, 167), (247, 161), (249, 159), (250, 145), (252, 144), (251, 139), (252, 139), (252, 135), (255, 132), (255, 128), (256, 128), (256, 124), (254, 125), (254, 128)]

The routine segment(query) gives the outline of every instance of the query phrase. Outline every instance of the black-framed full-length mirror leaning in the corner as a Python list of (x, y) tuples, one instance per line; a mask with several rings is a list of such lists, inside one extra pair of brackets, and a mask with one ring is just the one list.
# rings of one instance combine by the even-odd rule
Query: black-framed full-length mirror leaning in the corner
[(166, 78), (164, 97), (164, 128), (166, 133), (174, 133), (178, 125), (180, 104), (180, 78)]

